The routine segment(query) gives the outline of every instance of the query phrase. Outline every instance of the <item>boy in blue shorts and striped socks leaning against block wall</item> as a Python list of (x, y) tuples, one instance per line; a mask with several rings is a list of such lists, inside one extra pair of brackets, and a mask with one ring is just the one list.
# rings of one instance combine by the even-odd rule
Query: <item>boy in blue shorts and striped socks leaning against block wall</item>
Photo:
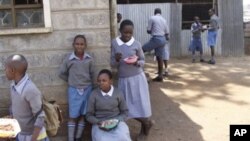
[(63, 61), (59, 77), (68, 82), (68, 141), (80, 141), (85, 127), (84, 115), (87, 100), (94, 83), (93, 58), (85, 52), (87, 40), (84, 35), (76, 35), (74, 52)]

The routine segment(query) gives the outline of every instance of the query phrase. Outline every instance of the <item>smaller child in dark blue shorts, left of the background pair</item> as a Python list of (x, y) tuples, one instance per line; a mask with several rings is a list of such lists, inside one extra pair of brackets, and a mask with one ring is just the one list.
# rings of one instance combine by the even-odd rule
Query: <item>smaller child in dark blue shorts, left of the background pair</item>
[(192, 63), (195, 63), (195, 51), (200, 52), (200, 62), (204, 62), (203, 48), (201, 42), (201, 33), (203, 32), (202, 24), (198, 16), (194, 17), (194, 23), (191, 25), (192, 39), (189, 45), (189, 51), (192, 52)]

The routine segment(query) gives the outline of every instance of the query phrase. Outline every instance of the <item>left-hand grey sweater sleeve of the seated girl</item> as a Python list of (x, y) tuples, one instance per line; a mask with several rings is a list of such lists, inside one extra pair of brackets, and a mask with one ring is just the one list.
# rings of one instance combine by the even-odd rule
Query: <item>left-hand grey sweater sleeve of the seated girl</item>
[(92, 93), (88, 100), (86, 119), (92, 124), (97, 124), (99, 120), (95, 117), (95, 94)]

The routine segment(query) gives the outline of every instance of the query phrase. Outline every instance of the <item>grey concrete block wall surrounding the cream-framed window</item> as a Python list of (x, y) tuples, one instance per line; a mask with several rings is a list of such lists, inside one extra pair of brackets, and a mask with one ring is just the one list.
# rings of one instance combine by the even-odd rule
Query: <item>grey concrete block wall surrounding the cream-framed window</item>
[(42, 93), (55, 99), (67, 115), (66, 83), (58, 77), (65, 54), (73, 51), (76, 34), (87, 37), (87, 51), (95, 58), (97, 71), (109, 67), (109, 0), (51, 0), (53, 32), (0, 37), (0, 117), (8, 113), (9, 81), (3, 61), (20, 53), (29, 62), (28, 73)]

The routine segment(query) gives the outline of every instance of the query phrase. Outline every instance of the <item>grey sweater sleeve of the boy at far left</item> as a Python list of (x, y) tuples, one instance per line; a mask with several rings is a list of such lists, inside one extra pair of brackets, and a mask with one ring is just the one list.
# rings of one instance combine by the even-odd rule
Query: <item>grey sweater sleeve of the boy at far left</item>
[[(37, 90), (30, 90), (26, 100), (30, 103), (33, 116), (35, 116), (42, 108), (41, 93)], [(36, 118), (34, 126), (42, 128), (44, 126), (45, 113), (42, 111)]]

